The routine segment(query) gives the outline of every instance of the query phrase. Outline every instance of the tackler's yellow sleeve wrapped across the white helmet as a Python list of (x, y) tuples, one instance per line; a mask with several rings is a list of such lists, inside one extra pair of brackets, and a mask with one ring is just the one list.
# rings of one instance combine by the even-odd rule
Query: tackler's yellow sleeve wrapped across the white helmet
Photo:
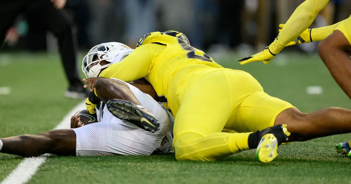
[(126, 82), (145, 77), (150, 73), (155, 45), (145, 44), (136, 48), (125, 59), (102, 71), (99, 77), (116, 78)]

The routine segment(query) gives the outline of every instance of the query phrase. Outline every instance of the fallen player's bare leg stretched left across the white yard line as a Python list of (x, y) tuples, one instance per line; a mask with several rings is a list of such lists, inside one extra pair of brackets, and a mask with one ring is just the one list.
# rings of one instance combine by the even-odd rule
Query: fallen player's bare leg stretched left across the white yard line
[(37, 135), (24, 134), (0, 140), (1, 153), (22, 157), (40, 156), (45, 153), (75, 155), (76, 136), (71, 129), (52, 130)]

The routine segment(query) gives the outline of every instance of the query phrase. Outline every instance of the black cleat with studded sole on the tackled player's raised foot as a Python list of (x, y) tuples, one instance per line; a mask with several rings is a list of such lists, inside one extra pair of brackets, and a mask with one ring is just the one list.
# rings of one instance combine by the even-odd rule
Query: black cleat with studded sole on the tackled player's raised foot
[(159, 121), (150, 112), (143, 111), (144, 107), (140, 105), (134, 105), (126, 100), (111, 99), (107, 101), (106, 106), (113, 116), (121, 120), (126, 120), (152, 133), (159, 130)]

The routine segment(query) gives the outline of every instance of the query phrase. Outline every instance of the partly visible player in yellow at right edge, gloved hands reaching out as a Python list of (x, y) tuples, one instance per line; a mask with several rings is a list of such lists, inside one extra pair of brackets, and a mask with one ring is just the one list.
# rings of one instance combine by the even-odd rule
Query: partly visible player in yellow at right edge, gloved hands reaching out
[[(285, 46), (322, 41), (318, 54), (332, 77), (351, 98), (351, 16), (331, 26), (307, 29), (329, 0), (306, 0), (296, 8), (279, 35), (265, 50), (239, 60), (240, 64), (263, 61), (268, 64)], [(293, 41), (291, 41), (293, 40)], [(351, 158), (351, 141), (336, 145), (338, 152)]]

